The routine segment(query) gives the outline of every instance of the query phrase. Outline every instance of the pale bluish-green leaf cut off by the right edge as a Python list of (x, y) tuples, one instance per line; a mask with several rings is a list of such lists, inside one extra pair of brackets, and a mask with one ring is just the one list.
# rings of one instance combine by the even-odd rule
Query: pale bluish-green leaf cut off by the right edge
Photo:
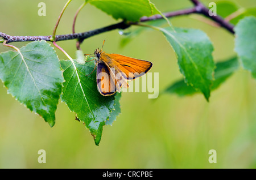
[(256, 79), (256, 18), (246, 17), (236, 25), (235, 51), (241, 59), (242, 66)]

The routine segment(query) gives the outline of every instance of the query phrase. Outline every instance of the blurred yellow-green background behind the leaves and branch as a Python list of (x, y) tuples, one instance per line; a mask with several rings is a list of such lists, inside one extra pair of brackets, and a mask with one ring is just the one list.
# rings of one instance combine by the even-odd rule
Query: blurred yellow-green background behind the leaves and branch
[[(9, 35), (51, 35), (65, 1), (1, 0), (0, 31)], [(38, 16), (38, 3), (46, 3), (46, 16)], [(57, 34), (72, 32), (72, 21), (82, 0), (74, 0), (61, 19)], [(188, 0), (152, 0), (162, 12), (191, 7)], [(204, 1), (205, 5), (211, 1)], [(217, 2), (217, 1), (214, 1)], [(255, 7), (255, 0), (237, 0), (242, 7)], [(214, 45), (214, 61), (232, 57), (234, 36), (197, 20), (198, 16), (172, 18), (176, 27), (198, 28)], [(77, 18), (76, 32), (116, 23), (111, 16), (86, 5)], [(118, 53), (154, 63), (162, 91), (182, 76), (174, 50), (160, 32), (145, 31), (121, 48), (118, 30), (90, 37), (81, 45), (92, 53), (106, 43), (108, 53)], [(13, 45), (21, 47), (26, 43)], [(75, 58), (76, 41), (58, 44)], [(10, 50), (0, 45), (0, 52)], [(66, 59), (56, 50), (60, 59)], [(249, 72), (238, 70), (211, 93), (177, 97), (148, 93), (123, 93), (122, 113), (105, 126), (100, 146), (75, 115), (60, 102), (56, 124), (49, 127), (11, 95), (0, 82), (0, 168), (256, 168), (256, 82)], [(39, 149), (46, 150), (46, 164), (38, 163)], [(217, 163), (208, 162), (210, 149)]]

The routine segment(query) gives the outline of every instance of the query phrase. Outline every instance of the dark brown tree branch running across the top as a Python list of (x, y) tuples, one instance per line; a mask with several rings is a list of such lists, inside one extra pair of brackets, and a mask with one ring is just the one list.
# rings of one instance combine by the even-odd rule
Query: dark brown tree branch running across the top
[[(209, 8), (205, 7), (201, 2), (197, 0), (190, 0), (195, 6), (192, 8), (187, 8), (184, 10), (179, 10), (179, 11), (173, 11), (173, 12), (167, 12), (164, 13), (164, 15), (167, 18), (171, 18), (174, 16), (180, 16), (180, 15), (187, 15), (187, 14), (192, 14), (192, 13), (197, 13), (197, 14), (203, 14), (210, 19), (212, 19), (214, 22), (220, 24), (221, 27), (227, 29), (229, 32), (234, 33), (234, 25), (230, 24), (229, 22), (226, 22), (221, 16), (210, 16), (209, 15)], [(156, 20), (156, 19), (162, 19), (163, 17), (161, 15), (154, 15), (150, 17), (142, 17), (139, 22), (147, 22), (150, 20)], [(73, 40), (73, 39), (78, 39), (79, 42), (84, 41), (86, 38), (98, 35), (100, 33), (112, 31), (114, 29), (126, 29), (130, 27), (132, 23), (129, 24), (129, 22), (120, 22), (117, 24), (109, 25), (107, 27), (103, 28), (98, 28), (94, 29), (92, 31), (87, 31), (87, 32), (82, 32), (82, 33), (72, 33), (68, 35), (56, 35), (55, 41), (65, 41), (65, 40)], [(6, 40), (6, 44), (10, 42), (24, 42), (24, 41), (40, 41), (40, 40), (45, 40), (45, 41), (51, 41), (52, 36), (10, 36), (7, 35), (6, 33), (0, 32), (0, 37), (4, 38)]]

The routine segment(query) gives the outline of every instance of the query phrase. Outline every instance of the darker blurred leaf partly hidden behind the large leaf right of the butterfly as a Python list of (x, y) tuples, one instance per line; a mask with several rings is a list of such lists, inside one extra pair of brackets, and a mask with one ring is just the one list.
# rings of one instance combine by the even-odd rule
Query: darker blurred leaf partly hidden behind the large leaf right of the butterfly
[[(239, 67), (237, 57), (231, 58), (228, 61), (218, 62), (216, 64), (216, 69), (214, 71), (214, 82), (212, 85), (212, 90), (217, 89), (222, 83), (228, 79), (234, 71)], [(168, 87), (164, 93), (176, 93), (178, 96), (193, 95), (198, 93), (191, 85), (187, 85), (184, 80), (179, 80), (176, 83)]]

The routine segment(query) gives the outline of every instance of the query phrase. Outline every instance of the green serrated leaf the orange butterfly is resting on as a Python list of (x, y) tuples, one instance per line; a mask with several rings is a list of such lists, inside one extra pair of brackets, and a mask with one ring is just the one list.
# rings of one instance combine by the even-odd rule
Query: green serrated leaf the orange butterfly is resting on
[(95, 144), (98, 145), (103, 126), (115, 108), (115, 96), (102, 96), (98, 92), (96, 71), (93, 71), (95, 65), (92, 61), (82, 64), (62, 60), (60, 63), (65, 79), (61, 99), (80, 121), (85, 123), (93, 135)]

